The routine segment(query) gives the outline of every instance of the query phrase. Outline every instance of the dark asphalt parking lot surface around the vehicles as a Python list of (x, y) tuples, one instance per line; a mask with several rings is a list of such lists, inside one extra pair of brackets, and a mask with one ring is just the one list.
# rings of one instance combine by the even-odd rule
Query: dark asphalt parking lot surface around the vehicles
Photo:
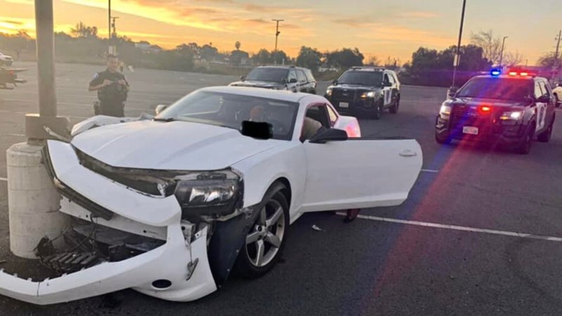
[[(0, 90), (0, 152), (25, 140), (37, 112), (34, 64), (27, 84)], [(61, 115), (93, 115), (87, 85), (100, 67), (57, 65)], [(203, 86), (237, 78), (159, 70), (125, 72), (126, 114), (152, 114)], [(327, 83), (319, 84), (319, 93)], [(561, 315), (562, 111), (550, 143), (528, 155), (433, 140), (443, 88), (403, 86), (400, 112), (361, 120), (364, 136), (415, 138), (424, 166), (407, 201), (362, 211), (353, 223), (315, 213), (289, 230), (283, 261), (265, 277), (233, 277), (193, 303), (125, 290), (103, 298), (34, 306), (0, 297), (0, 315)], [(9, 251), (6, 157), (0, 154), (0, 260)], [(312, 225), (321, 228), (313, 230)], [(529, 235), (522, 235), (529, 234)], [(1, 265), (0, 265), (1, 268)]]

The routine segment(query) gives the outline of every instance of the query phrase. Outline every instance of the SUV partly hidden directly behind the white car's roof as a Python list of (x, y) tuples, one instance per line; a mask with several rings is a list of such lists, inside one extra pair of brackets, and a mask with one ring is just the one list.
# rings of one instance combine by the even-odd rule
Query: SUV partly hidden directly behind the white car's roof
[(316, 94), (316, 79), (311, 70), (294, 66), (260, 66), (230, 86), (251, 86)]

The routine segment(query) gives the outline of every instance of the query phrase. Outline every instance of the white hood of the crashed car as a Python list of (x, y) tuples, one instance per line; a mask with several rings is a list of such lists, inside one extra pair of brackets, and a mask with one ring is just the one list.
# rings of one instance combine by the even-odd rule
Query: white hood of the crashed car
[(280, 141), (256, 140), (208, 124), (133, 121), (86, 131), (72, 145), (116, 167), (204, 171), (227, 168)]

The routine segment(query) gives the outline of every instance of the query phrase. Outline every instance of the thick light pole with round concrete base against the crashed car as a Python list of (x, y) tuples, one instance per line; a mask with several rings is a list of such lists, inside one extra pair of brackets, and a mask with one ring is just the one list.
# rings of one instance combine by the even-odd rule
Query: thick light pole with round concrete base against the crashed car
[[(60, 195), (42, 162), (45, 127), (67, 136), (69, 121), (57, 117), (53, 38), (53, 1), (35, 0), (39, 114), (25, 115), (26, 143), (6, 151), (10, 250), (15, 256), (37, 258), (34, 249), (43, 237), (53, 239), (70, 224), (58, 211)], [(63, 239), (58, 239), (62, 242)]]

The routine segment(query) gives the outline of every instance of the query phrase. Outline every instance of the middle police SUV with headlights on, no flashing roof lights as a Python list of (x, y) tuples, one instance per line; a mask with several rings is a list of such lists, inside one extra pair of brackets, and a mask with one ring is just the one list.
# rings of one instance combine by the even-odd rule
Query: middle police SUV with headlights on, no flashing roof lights
[(400, 81), (393, 70), (352, 67), (334, 80), (324, 97), (341, 113), (380, 119), (386, 109), (398, 112)]

